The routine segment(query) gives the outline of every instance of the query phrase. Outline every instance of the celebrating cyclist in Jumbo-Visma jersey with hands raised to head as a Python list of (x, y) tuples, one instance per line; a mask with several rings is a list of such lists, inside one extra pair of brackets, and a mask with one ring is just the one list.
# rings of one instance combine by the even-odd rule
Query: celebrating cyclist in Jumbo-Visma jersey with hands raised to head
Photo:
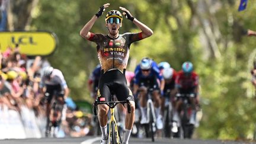
[[(119, 7), (123, 11), (123, 15), (140, 28), (139, 33), (119, 34), (123, 15), (117, 10), (107, 12), (105, 16), (105, 27), (108, 34), (95, 34), (89, 32), (95, 21), (103, 14), (105, 8), (110, 4), (104, 4), (98, 10), (91, 20), (84, 25), (80, 31), (80, 35), (89, 41), (97, 44), (98, 59), (101, 64), (101, 76), (99, 81), (99, 89), (97, 92), (98, 101), (109, 101), (112, 92), (116, 94), (119, 101), (130, 100), (131, 113), (126, 114), (126, 132), (124, 133), (124, 143), (128, 143), (130, 132), (132, 131), (133, 121), (135, 119), (135, 103), (132, 92), (127, 87), (125, 72), (129, 59), (130, 44), (149, 37), (153, 31), (145, 24), (134, 18), (130, 12), (123, 7)], [(127, 107), (127, 105), (126, 105)], [(98, 105), (98, 118), (100, 121), (102, 140), (101, 143), (107, 143), (107, 113), (108, 106), (106, 104)]]

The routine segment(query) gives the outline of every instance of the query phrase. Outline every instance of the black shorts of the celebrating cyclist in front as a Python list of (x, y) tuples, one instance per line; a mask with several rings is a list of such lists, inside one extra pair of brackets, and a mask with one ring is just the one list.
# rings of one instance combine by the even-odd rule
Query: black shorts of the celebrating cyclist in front
[(119, 101), (134, 101), (132, 91), (127, 86), (125, 69), (123, 73), (117, 69), (105, 73), (102, 70), (98, 88), (98, 102), (111, 101), (111, 94), (115, 94)]

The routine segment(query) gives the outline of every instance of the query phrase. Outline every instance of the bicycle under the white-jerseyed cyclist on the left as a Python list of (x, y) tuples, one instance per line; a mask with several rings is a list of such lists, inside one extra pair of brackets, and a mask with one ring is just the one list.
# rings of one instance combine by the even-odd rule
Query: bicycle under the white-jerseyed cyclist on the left
[[(58, 94), (58, 95), (62, 96), (62, 94)], [(46, 92), (45, 96), (49, 97), (50, 94)], [(54, 94), (52, 101), (50, 103), (50, 113), (49, 113), (49, 116), (47, 117), (47, 119), (49, 119), (49, 123), (47, 123), (46, 137), (49, 137), (49, 136), (57, 137), (57, 133), (59, 132), (59, 126), (61, 123), (62, 109), (63, 109), (63, 104), (61, 104), (56, 94)]]

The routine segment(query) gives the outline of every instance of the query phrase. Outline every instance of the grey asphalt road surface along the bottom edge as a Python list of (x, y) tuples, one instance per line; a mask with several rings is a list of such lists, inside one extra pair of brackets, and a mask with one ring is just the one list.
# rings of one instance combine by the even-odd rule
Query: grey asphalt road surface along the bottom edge
[[(66, 137), (66, 138), (41, 138), (41, 139), (5, 139), (0, 140), (1, 144), (94, 144), (100, 143), (100, 137)], [(197, 140), (197, 139), (155, 139), (155, 142), (151, 142), (151, 139), (138, 139), (131, 138), (129, 144), (149, 144), (149, 143), (157, 143), (157, 144), (236, 144), (236, 143), (256, 143), (256, 142), (235, 142), (235, 141), (222, 141), (222, 140)]]

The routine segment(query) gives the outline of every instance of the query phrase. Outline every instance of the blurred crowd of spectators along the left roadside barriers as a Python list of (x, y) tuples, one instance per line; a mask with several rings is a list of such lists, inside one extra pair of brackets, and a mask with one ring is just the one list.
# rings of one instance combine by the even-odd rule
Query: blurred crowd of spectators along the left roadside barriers
[[(40, 126), (40, 121), (46, 121), (46, 106), (44, 94), (39, 92), (39, 82), (42, 69), (50, 66), (50, 63), (40, 56), (26, 56), (20, 53), (20, 49), (15, 44), (15, 47), (7, 47), (0, 53), (0, 113), (12, 110), (22, 115), (23, 107), (26, 107), (33, 111), (43, 137), (45, 127), (44, 124)], [(66, 119), (62, 121), (59, 137), (79, 137), (92, 133), (91, 114), (80, 111), (70, 97), (66, 105)]]

